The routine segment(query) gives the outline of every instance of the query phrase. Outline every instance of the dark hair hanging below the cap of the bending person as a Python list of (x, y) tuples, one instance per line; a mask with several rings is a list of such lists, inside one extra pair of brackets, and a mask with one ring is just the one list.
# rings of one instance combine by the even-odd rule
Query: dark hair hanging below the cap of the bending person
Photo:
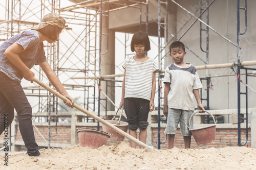
[(52, 26), (52, 25), (48, 25), (42, 29), (36, 30), (39, 33), (47, 36), (48, 38), (50, 38), (53, 41), (58, 41), (58, 37), (59, 37), (59, 32), (62, 30), (62, 28), (56, 27), (56, 26)]

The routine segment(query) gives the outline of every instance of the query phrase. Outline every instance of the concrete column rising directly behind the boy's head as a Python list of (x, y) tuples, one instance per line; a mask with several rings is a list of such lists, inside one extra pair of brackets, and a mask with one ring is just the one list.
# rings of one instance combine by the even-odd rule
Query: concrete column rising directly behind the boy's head
[[(177, 28), (176, 28), (176, 25), (177, 25), (177, 6), (174, 5), (172, 2), (168, 2), (168, 21), (166, 21), (166, 18), (165, 18), (165, 23), (167, 23), (167, 26), (168, 26), (168, 32), (169, 33), (172, 33), (173, 35), (176, 34), (177, 32)], [(171, 36), (170, 34), (168, 34), (168, 37), (166, 37), (166, 34), (164, 34), (165, 36), (165, 40), (167, 39), (167, 42), (170, 40), (170, 39), (173, 39), (173, 36)], [(176, 41), (176, 39), (173, 39), (172, 42)], [(167, 53), (167, 51), (169, 50), (169, 46), (170, 44), (172, 43), (168, 43), (166, 48), (165, 48), (165, 53)], [(165, 41), (165, 45), (166, 45), (166, 41)], [(169, 53), (165, 56), (164, 58), (164, 69), (170, 65), (170, 63), (173, 63), (173, 59), (170, 58), (169, 56)]]

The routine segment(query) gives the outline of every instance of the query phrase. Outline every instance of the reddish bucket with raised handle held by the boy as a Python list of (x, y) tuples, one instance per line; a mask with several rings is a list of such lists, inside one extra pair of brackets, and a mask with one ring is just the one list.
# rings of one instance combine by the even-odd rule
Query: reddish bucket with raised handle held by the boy
[(190, 122), (191, 122), (191, 118), (198, 113), (199, 111), (196, 111), (195, 113), (193, 113), (190, 118), (189, 118), (189, 131), (192, 133), (194, 139), (196, 140), (197, 144), (199, 146), (202, 145), (207, 145), (209, 143), (215, 143), (215, 136), (216, 136), (216, 122), (215, 122), (215, 118), (214, 116), (205, 111), (206, 113), (210, 114), (212, 116), (212, 118), (214, 119), (214, 125), (209, 125), (206, 127), (200, 127), (200, 128), (194, 128), (194, 129), (190, 129)]

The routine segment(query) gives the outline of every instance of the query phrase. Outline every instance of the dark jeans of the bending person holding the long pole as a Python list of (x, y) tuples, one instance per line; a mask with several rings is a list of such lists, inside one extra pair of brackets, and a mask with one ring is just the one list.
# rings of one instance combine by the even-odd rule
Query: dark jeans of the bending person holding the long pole
[(4, 131), (4, 117), (8, 114), (8, 126), (18, 114), (19, 131), (29, 156), (39, 156), (38, 145), (32, 126), (32, 108), (20, 83), (11, 80), (0, 71), (0, 134)]

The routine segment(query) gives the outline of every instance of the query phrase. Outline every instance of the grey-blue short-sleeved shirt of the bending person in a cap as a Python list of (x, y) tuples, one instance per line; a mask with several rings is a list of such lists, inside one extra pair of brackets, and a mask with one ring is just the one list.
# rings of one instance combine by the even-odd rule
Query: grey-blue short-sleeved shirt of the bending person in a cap
[(13, 43), (23, 46), (24, 50), (19, 53), (20, 59), (29, 69), (35, 64), (46, 62), (44, 44), (39, 42), (39, 32), (35, 30), (23, 31), (12, 36), (0, 46), (0, 71), (4, 72), (10, 79), (20, 83), (23, 79), (22, 71), (14, 66), (5, 56), (5, 50)]

